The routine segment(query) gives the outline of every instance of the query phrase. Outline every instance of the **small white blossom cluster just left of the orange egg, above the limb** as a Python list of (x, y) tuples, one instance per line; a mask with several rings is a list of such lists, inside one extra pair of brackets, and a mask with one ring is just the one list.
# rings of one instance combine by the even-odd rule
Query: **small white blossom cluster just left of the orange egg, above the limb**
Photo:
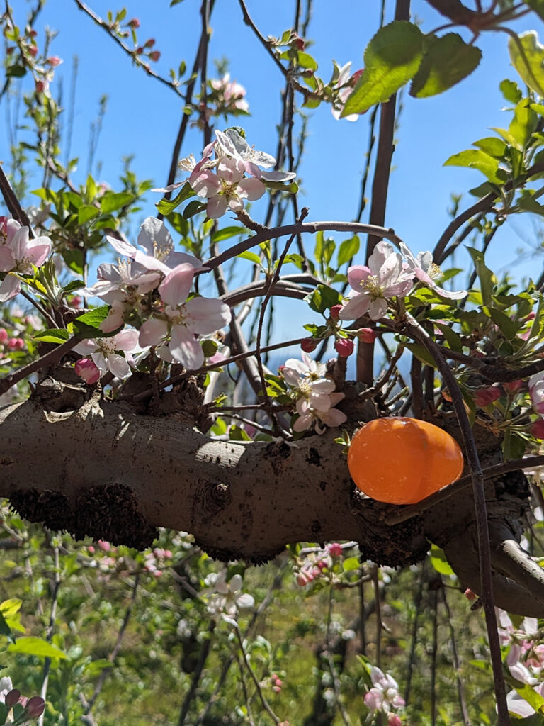
[(345, 422), (345, 413), (334, 408), (345, 394), (334, 393), (334, 380), (326, 377), (323, 363), (313, 361), (302, 351), (302, 360), (289, 358), (279, 372), (289, 386), (289, 396), (298, 414), (294, 431), (308, 431), (315, 426), (317, 433), (324, 433), (323, 425), (339, 426)]

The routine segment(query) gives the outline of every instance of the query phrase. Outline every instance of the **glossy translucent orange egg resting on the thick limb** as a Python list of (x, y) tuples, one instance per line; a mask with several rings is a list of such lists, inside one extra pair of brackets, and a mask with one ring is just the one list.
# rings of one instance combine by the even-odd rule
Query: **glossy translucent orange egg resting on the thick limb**
[(347, 466), (356, 486), (379, 502), (415, 504), (463, 471), (457, 441), (416, 418), (376, 418), (353, 435)]

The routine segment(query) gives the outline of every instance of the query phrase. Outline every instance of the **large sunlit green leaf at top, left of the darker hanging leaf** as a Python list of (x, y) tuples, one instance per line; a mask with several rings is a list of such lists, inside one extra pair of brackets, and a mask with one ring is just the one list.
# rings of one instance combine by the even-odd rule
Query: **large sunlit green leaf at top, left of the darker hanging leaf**
[(424, 35), (407, 20), (394, 20), (380, 28), (366, 46), (365, 70), (348, 97), (342, 116), (363, 113), (387, 101), (416, 75), (423, 54)]

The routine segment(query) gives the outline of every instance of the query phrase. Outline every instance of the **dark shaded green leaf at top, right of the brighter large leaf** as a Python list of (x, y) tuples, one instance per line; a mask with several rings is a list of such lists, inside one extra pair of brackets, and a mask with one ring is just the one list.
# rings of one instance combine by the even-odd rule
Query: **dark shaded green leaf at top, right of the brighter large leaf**
[(423, 60), (413, 78), (410, 95), (428, 98), (447, 91), (470, 76), (481, 59), (482, 51), (465, 43), (457, 33), (426, 38)]

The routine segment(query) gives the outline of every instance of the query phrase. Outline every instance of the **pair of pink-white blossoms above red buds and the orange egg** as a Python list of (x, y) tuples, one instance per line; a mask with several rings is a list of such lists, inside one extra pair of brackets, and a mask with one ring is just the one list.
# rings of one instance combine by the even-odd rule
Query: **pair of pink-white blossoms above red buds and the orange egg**
[(450, 292), (438, 287), (434, 280), (440, 276), (440, 268), (432, 261), (430, 252), (414, 257), (402, 243), (399, 253), (389, 242), (378, 242), (368, 258), (368, 266), (354, 265), (347, 270), (347, 281), (353, 290), (339, 311), (339, 319), (356, 320), (368, 315), (379, 320), (387, 312), (388, 301), (408, 295), (417, 280), (442, 297), (465, 297), (466, 290)]

